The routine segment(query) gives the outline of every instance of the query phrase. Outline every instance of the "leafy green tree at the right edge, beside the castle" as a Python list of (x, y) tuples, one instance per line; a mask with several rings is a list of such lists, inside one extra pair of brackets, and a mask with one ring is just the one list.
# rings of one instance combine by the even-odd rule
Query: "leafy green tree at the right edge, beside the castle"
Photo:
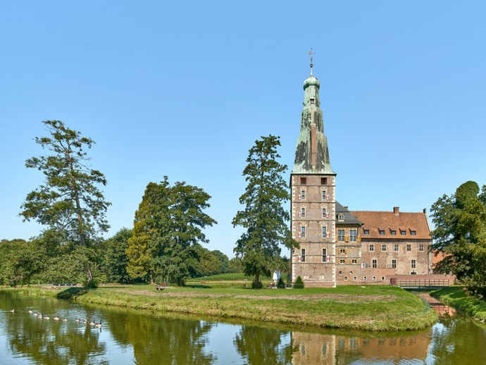
[(437, 271), (454, 273), (478, 297), (486, 296), (486, 186), (468, 181), (432, 205), (433, 249), (443, 252)]

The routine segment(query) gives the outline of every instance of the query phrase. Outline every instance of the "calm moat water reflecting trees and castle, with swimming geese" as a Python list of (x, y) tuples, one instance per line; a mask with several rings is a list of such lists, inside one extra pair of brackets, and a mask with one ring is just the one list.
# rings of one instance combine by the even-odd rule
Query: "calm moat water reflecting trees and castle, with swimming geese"
[[(51, 319), (29, 314), (30, 307)], [(68, 321), (54, 321), (56, 314)], [(102, 327), (75, 318), (101, 320)], [(486, 327), (456, 316), (414, 333), (311, 331), (6, 292), (0, 293), (0, 364), (486, 364)]]

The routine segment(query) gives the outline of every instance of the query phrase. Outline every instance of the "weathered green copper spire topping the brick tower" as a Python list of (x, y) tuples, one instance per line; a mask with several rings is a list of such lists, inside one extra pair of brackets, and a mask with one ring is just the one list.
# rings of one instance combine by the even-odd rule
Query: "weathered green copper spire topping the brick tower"
[(312, 75), (304, 81), (304, 109), (300, 135), (295, 149), (292, 173), (333, 174), (329, 161), (328, 139), (324, 135), (323, 111), (320, 110), (320, 82)]

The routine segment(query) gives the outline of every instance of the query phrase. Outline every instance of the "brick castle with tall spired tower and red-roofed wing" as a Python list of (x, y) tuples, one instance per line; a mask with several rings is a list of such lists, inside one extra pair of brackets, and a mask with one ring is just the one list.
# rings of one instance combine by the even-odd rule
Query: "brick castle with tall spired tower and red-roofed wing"
[(292, 281), (306, 287), (390, 284), (432, 273), (430, 225), (425, 209), (404, 213), (349, 211), (336, 200), (336, 173), (320, 110), (320, 82), (304, 81), (304, 109), (290, 175)]

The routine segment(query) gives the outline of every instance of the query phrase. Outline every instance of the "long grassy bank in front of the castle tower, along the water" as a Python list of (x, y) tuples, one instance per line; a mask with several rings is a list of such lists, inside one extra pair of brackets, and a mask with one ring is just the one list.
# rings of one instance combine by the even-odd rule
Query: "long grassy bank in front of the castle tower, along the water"
[(431, 326), (437, 315), (398, 287), (370, 285), (302, 290), (251, 290), (239, 287), (168, 287), (110, 285), (96, 290), (22, 289), (26, 294), (64, 297), (162, 313), (244, 318), (292, 325), (349, 330), (416, 330)]

